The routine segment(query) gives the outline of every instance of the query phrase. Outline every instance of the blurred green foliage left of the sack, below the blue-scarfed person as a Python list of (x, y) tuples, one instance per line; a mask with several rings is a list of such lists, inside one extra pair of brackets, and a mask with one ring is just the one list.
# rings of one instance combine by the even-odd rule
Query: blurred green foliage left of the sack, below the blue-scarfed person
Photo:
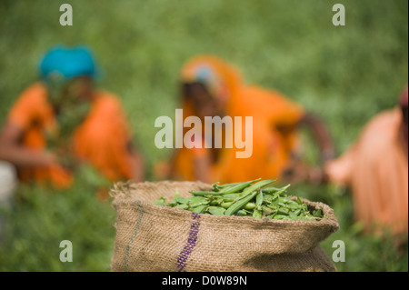
[[(109, 200), (96, 197), (107, 185), (87, 166), (69, 189), (20, 185), (14, 206), (0, 211), (0, 271), (109, 271), (115, 211)], [(73, 262), (59, 259), (63, 240), (73, 244)]]

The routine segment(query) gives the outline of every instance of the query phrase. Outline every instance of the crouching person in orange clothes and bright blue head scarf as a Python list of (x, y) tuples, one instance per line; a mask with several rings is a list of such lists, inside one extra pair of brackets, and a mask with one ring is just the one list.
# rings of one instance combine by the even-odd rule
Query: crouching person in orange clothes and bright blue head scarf
[(77, 162), (110, 180), (142, 181), (142, 157), (118, 98), (93, 85), (90, 51), (57, 46), (45, 54), (40, 73), (11, 108), (0, 132), (0, 160), (15, 165), (22, 180), (57, 187), (72, 184)]

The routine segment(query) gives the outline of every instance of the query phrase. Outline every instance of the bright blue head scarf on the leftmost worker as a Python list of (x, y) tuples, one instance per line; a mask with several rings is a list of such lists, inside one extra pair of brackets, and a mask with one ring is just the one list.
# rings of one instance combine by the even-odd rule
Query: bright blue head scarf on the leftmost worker
[(79, 75), (97, 76), (94, 57), (86, 46), (55, 46), (43, 56), (39, 71), (45, 83), (65, 83)]

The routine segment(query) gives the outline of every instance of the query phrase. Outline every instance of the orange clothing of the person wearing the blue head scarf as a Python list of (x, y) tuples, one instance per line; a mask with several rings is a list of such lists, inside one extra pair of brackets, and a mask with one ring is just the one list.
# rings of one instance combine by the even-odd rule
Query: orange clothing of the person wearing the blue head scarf
[[(58, 126), (42, 83), (31, 85), (19, 96), (8, 120), (24, 130), (22, 144), (34, 150), (44, 150), (45, 133)], [(95, 91), (91, 112), (73, 134), (75, 156), (95, 165), (112, 180), (132, 178), (126, 149), (129, 140), (124, 114), (115, 95)], [(19, 168), (19, 172), (24, 180), (51, 182), (58, 187), (66, 187), (73, 181), (72, 175), (59, 165)]]

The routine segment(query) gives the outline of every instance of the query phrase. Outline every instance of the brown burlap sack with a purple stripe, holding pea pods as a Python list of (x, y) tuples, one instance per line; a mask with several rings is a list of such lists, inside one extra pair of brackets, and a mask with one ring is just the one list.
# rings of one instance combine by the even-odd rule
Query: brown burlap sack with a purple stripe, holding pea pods
[(117, 216), (111, 271), (252, 272), (335, 271), (319, 243), (339, 225), (333, 210), (304, 200), (326, 215), (321, 221), (257, 220), (198, 215), (154, 205), (178, 189), (208, 190), (200, 182), (117, 183), (111, 191)]

